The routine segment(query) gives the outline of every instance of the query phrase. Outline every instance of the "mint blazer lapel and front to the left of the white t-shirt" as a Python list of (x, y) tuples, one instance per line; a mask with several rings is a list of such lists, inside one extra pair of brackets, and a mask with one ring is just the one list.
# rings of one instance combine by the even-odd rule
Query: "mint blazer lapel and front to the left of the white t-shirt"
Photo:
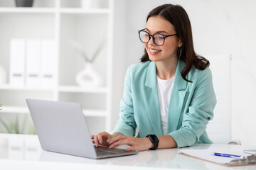
[(154, 128), (156, 135), (163, 135), (161, 127), (161, 114), (159, 108), (159, 97), (156, 86), (156, 63), (150, 62), (146, 73), (146, 81), (144, 86), (145, 101), (151, 120), (151, 125)]

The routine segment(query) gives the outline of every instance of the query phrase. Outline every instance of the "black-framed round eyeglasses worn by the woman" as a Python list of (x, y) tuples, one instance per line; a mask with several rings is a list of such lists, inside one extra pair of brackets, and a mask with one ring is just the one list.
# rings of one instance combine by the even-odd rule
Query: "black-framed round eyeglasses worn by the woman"
[(164, 45), (164, 40), (166, 37), (171, 37), (174, 35), (178, 35), (178, 34), (172, 34), (172, 35), (162, 35), (159, 33), (155, 33), (153, 35), (150, 35), (149, 33), (147, 33), (145, 31), (145, 29), (142, 30), (138, 30), (139, 33), (139, 40), (141, 40), (143, 43), (147, 43), (149, 42), (150, 38), (153, 38), (153, 42), (157, 45), (157, 46), (162, 46)]

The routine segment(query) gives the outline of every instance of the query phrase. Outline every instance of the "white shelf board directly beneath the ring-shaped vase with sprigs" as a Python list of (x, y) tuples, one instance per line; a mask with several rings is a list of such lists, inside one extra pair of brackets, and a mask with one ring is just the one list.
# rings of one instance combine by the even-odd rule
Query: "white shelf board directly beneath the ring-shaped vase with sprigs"
[(74, 92), (74, 93), (94, 93), (104, 94), (107, 93), (106, 87), (79, 87), (79, 86), (60, 86), (60, 92)]

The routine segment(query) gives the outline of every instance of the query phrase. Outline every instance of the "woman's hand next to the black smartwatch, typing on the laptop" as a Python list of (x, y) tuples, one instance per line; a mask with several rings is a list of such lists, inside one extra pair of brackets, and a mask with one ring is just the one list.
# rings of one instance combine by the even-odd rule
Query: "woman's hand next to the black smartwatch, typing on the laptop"
[(127, 151), (144, 151), (154, 146), (149, 140), (149, 137), (137, 138), (129, 135), (120, 135), (112, 138), (112, 140), (109, 140), (108, 142), (110, 143), (110, 148), (118, 147), (120, 145), (129, 145), (130, 147), (125, 149)]

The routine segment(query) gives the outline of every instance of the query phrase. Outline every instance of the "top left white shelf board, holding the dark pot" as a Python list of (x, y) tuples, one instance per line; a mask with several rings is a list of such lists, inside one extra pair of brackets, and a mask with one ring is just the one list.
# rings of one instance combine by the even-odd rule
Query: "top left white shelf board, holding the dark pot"
[(55, 8), (1, 7), (0, 13), (55, 13)]

